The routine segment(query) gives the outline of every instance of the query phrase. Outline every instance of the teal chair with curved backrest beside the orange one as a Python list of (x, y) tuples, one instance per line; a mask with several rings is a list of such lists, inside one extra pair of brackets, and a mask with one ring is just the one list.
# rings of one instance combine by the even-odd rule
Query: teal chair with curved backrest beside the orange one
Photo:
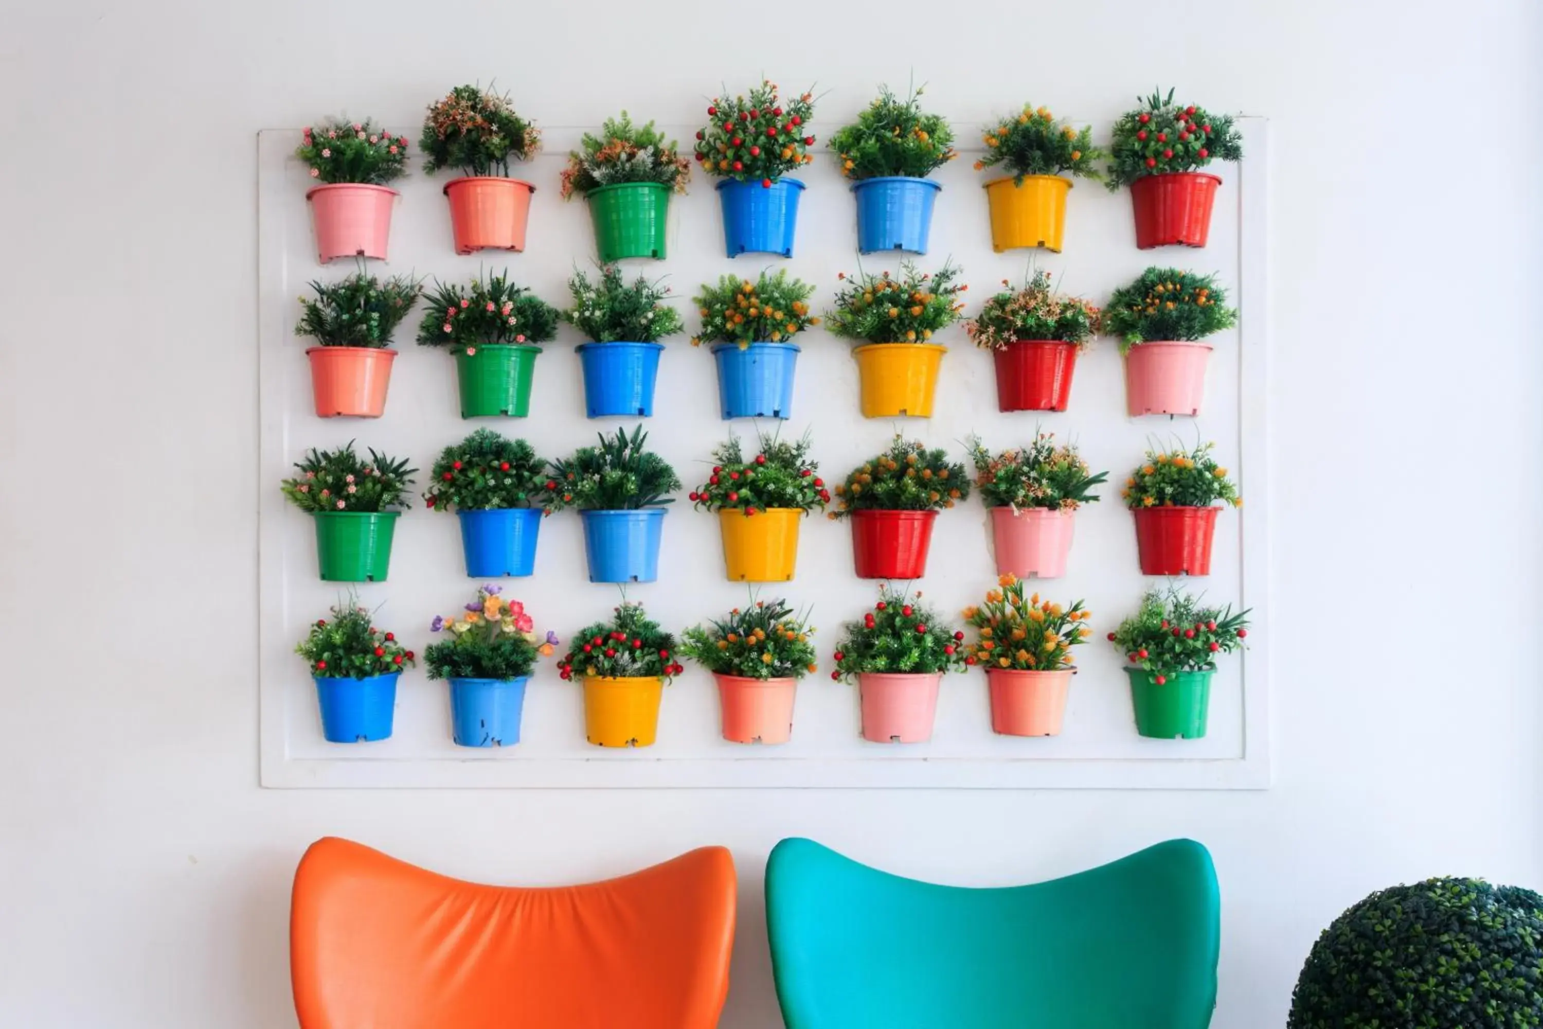
[(1221, 899), (1193, 839), (1001, 889), (784, 839), (767, 935), (788, 1029), (1205, 1029)]

